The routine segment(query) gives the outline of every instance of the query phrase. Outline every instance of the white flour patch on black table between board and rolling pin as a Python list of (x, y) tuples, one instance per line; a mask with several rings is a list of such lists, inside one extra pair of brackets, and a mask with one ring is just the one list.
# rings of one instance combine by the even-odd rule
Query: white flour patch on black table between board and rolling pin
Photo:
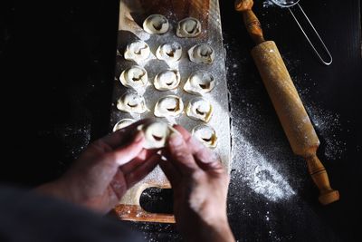
[[(274, 128), (269, 120), (264, 120), (264, 114), (260, 111), (262, 103), (259, 96), (262, 94), (260, 93), (260, 89), (263, 89), (262, 82), (256, 76), (245, 74), (248, 72), (249, 58), (243, 56), (248, 53), (239, 53), (234, 47), (237, 45), (234, 39), (224, 44), (227, 53), (232, 53), (227, 55), (226, 59), (233, 116), (232, 169), (235, 172), (232, 173), (232, 179), (235, 182), (232, 182), (232, 186), (239, 187), (235, 191), (244, 190), (243, 187), (246, 186), (273, 202), (289, 199), (296, 194), (296, 191), (291, 187), (289, 176), (280, 170), (284, 164), (290, 162), (290, 157), (283, 153), (285, 144), (281, 144), (273, 137), (262, 136), (264, 130)], [(258, 126), (261, 129), (256, 128)], [(268, 147), (265, 147), (263, 142), (253, 142), (260, 139), (271, 142), (267, 144)], [(263, 150), (268, 151), (264, 153)]]

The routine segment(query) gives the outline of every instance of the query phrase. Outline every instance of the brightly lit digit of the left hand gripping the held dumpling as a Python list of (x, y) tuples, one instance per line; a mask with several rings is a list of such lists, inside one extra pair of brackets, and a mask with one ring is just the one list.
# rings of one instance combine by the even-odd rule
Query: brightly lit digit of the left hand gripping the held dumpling
[(137, 135), (129, 142), (129, 144), (114, 150), (113, 155), (119, 166), (128, 163), (130, 160), (135, 159), (138, 154), (143, 150), (143, 142), (145, 138), (143, 133), (138, 131)]

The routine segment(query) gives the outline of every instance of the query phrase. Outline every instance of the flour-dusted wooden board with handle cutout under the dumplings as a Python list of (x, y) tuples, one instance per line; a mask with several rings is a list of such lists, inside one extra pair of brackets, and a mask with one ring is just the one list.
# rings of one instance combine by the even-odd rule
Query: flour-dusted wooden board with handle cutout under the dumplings
[[(165, 15), (170, 22), (172, 29), (167, 34), (163, 35), (151, 35), (143, 31), (142, 23), (148, 15), (160, 14)], [(231, 150), (231, 137), (230, 137), (230, 119), (229, 119), (229, 92), (227, 91), (226, 84), (226, 71), (225, 71), (225, 52), (222, 39), (222, 30), (220, 22), (220, 12), (218, 0), (121, 0), (119, 6), (119, 35), (118, 35), (118, 55), (115, 67), (115, 86), (113, 93), (113, 106), (111, 112), (110, 126), (124, 118), (133, 118), (135, 120), (153, 117), (152, 111), (146, 114), (134, 115), (126, 114), (118, 111), (115, 107), (115, 103), (119, 96), (127, 92), (126, 88), (123, 87), (119, 82), (120, 73), (129, 67), (132, 62), (126, 61), (123, 58), (124, 50), (132, 41), (143, 40), (151, 48), (151, 52), (155, 53), (157, 46), (163, 44), (166, 40), (176, 37), (175, 28), (176, 23), (188, 16), (199, 19), (202, 23), (203, 32), (199, 36), (193, 39), (176, 39), (184, 48), (184, 55), (186, 51), (193, 45), (198, 43), (211, 44), (215, 51), (215, 61), (212, 65), (207, 64), (195, 64), (191, 63), (185, 56), (184, 61), (180, 61), (179, 72), (181, 73), (181, 84), (178, 88), (178, 92), (182, 92), (182, 86), (186, 82), (186, 79), (191, 71), (204, 69), (213, 73), (216, 79), (216, 87), (213, 90), (213, 96), (210, 96), (212, 104), (214, 105), (214, 117), (210, 121), (210, 125), (214, 127), (219, 136), (219, 144), (215, 149), (216, 153), (219, 154), (223, 161), (225, 169), (230, 170), (230, 150)], [(171, 35), (170, 35), (171, 34)], [(168, 36), (168, 39), (167, 39)], [(141, 65), (141, 64), (140, 64)], [(157, 72), (161, 71), (160, 68), (155, 66), (162, 66), (159, 61), (155, 58), (150, 60), (149, 63), (142, 65), (148, 71), (148, 81), (152, 82), (152, 76), (155, 76)], [(162, 66), (166, 68), (165, 66)], [(151, 90), (153, 87), (149, 87)], [(151, 92), (151, 94), (149, 94)], [(167, 93), (173, 94), (173, 93)], [(177, 93), (178, 94), (178, 93)], [(145, 99), (148, 102), (148, 108), (152, 109), (154, 103), (161, 95), (160, 92), (153, 91), (145, 92)], [(187, 99), (191, 99), (192, 95), (186, 92), (182, 93)], [(184, 101), (185, 102), (185, 101)], [(191, 131), (197, 124), (195, 121), (191, 121), (186, 115), (185, 118), (180, 118), (177, 123), (186, 127), (187, 130)], [(143, 190), (150, 187), (158, 188), (170, 188), (170, 184), (163, 174), (162, 170), (157, 167), (147, 178), (140, 181), (135, 187), (129, 189), (127, 194), (120, 200), (119, 206), (115, 208), (117, 216), (121, 219), (126, 220), (137, 220), (137, 221), (150, 221), (150, 222), (165, 222), (173, 223), (175, 218), (169, 214), (152, 214), (146, 212), (139, 205), (139, 198)]]

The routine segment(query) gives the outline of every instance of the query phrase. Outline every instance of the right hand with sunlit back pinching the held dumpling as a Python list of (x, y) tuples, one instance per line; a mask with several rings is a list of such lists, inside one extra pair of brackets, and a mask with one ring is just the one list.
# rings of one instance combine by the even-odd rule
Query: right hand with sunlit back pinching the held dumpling
[(226, 216), (229, 176), (219, 158), (176, 125), (160, 166), (174, 190), (177, 227), (186, 241), (234, 241)]

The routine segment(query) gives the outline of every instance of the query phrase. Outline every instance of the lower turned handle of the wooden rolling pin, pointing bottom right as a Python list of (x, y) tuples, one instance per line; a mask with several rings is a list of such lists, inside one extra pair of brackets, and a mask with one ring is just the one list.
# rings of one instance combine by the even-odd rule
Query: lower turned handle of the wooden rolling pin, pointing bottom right
[(319, 189), (319, 202), (328, 205), (339, 199), (338, 190), (330, 188), (326, 169), (316, 155), (307, 158), (308, 170), (314, 183)]

